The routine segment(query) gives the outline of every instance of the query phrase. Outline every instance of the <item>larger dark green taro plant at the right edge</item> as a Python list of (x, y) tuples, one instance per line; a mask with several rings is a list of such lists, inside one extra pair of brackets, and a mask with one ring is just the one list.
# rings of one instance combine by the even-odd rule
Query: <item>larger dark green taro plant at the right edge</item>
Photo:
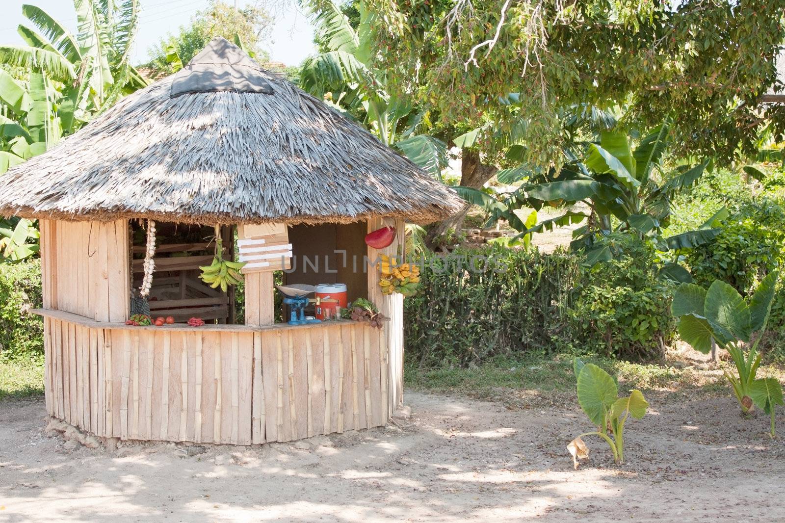
[[(723, 369), (722, 373), (730, 383), (743, 414), (749, 413), (758, 404), (773, 416), (774, 405), (782, 401), (779, 382), (755, 377), (761, 364), (758, 344), (769, 323), (778, 277), (778, 272), (769, 273), (749, 302), (728, 283), (715, 280), (708, 290), (692, 283), (682, 283), (671, 303), (671, 313), (678, 318), (677, 331), (681, 339), (704, 354), (709, 353), (712, 342), (728, 350), (736, 375), (728, 369)], [(754, 342), (745, 353), (753, 336)]]

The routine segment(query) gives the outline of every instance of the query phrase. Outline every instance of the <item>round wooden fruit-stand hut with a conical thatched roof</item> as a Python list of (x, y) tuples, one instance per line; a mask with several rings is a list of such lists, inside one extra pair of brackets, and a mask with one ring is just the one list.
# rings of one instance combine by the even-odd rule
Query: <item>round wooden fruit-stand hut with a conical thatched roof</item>
[[(401, 401), (403, 298), (382, 294), (363, 256), (402, 254), (404, 221), (460, 206), (223, 38), (9, 170), (3, 186), (0, 214), (40, 225), (47, 411), (127, 440), (260, 444), (385, 424)], [(125, 323), (151, 221), (152, 315), (201, 316), (202, 327)], [(260, 269), (245, 274), (245, 321), (235, 324), (232, 292), (198, 278), (214, 225), (229, 258), (235, 235), (292, 260), (324, 258), (290, 269), (285, 283), (346, 283), (350, 300), (369, 298), (391, 320), (381, 331), (276, 323), (274, 272)], [(382, 225), (396, 239), (376, 251), (364, 236)]]

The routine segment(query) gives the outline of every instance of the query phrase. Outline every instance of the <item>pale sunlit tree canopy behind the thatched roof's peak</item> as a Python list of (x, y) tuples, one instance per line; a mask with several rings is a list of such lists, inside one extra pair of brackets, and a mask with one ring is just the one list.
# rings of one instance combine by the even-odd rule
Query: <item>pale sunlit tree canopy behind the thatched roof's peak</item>
[(196, 13), (190, 25), (181, 26), (177, 35), (167, 35), (152, 46), (148, 51), (151, 60), (145, 66), (152, 68), (156, 76), (169, 75), (174, 72), (173, 53), (177, 53), (183, 64), (188, 64), (216, 36), (230, 42), (239, 37), (243, 47), (255, 53), (257, 60), (268, 61), (267, 53), (258, 44), (269, 35), (272, 22), (267, 10), (256, 5), (235, 9), (221, 0), (211, 0), (207, 9)]

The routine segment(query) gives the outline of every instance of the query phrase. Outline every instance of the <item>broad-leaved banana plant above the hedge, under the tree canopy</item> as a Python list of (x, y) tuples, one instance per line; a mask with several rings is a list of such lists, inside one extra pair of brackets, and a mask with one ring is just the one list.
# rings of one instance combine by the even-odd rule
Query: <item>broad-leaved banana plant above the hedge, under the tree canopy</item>
[[(538, 172), (519, 166), (499, 172), (507, 183), (524, 181), (513, 192), (493, 198), (472, 188), (458, 187), (458, 194), (469, 203), (484, 207), (490, 214), (487, 225), (504, 219), (524, 236), (531, 232), (585, 222), (573, 232), (571, 248), (585, 251), (590, 259), (612, 258), (612, 250), (601, 240), (613, 232), (629, 232), (652, 240), (659, 251), (678, 251), (712, 240), (719, 229), (703, 228), (662, 238), (670, 218), (670, 202), (685, 188), (696, 183), (708, 162), (682, 165), (669, 172), (662, 166), (670, 133), (668, 121), (644, 136), (632, 148), (626, 133), (601, 131), (599, 143), (590, 143), (580, 160), (560, 169)], [(515, 211), (532, 207), (571, 207), (583, 203), (588, 212), (567, 210), (557, 218), (540, 221), (527, 228)], [(618, 225), (614, 225), (614, 220)], [(675, 262), (663, 266), (663, 276), (689, 280), (686, 269), (674, 268)]]

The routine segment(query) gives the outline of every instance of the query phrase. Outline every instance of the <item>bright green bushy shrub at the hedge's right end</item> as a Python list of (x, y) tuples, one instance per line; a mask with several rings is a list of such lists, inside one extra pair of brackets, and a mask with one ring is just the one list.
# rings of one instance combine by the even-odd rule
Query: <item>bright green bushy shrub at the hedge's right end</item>
[(582, 349), (632, 360), (660, 360), (674, 335), (673, 286), (655, 277), (654, 251), (630, 243), (619, 258), (582, 269), (569, 309)]

